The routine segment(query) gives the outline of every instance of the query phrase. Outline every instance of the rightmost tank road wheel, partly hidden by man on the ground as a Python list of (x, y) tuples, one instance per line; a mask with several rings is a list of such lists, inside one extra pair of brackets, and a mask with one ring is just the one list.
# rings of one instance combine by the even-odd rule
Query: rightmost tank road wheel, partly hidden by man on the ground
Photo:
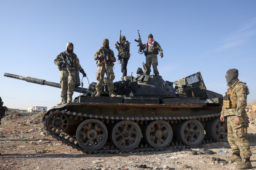
[(228, 120), (225, 118), (224, 122), (220, 118), (216, 118), (210, 125), (210, 134), (216, 142), (227, 142), (228, 141)]

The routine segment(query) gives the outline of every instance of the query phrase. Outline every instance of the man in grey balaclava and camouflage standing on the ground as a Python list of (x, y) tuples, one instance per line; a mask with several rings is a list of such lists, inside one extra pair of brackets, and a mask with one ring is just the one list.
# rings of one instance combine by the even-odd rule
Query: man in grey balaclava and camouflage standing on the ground
[[(246, 83), (238, 80), (237, 69), (228, 70), (226, 80), (228, 92), (224, 96), (220, 120), (224, 121), (224, 116), (227, 116), (228, 143), (233, 150), (232, 156), (227, 158), (226, 161), (238, 162), (237, 169), (250, 169), (252, 168), (250, 162), (252, 152), (247, 137), (245, 111), (249, 89)], [(240, 154), (244, 158), (241, 158)]]

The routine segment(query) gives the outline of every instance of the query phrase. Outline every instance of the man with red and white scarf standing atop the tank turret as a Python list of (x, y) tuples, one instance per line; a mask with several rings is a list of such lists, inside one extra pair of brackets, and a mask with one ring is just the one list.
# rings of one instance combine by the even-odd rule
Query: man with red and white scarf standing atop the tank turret
[(161, 49), (161, 46), (158, 42), (154, 41), (153, 35), (148, 35), (148, 42), (146, 44), (143, 44), (143, 49), (145, 49), (145, 55), (146, 55), (146, 67), (148, 71), (146, 72), (146, 75), (149, 75), (151, 70), (151, 64), (153, 67), (153, 72), (155, 75), (159, 75), (159, 72), (157, 70), (158, 61), (157, 61), (157, 55), (158, 51), (160, 51), (161, 58), (164, 57), (163, 50)]

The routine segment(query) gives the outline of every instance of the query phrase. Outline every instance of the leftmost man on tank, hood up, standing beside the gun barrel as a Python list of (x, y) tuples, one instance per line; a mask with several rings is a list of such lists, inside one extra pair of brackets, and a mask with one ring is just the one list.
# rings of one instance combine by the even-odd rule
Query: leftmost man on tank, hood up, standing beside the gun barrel
[[(83, 74), (84, 77), (86, 77), (86, 73), (84, 72), (84, 69), (82, 69), (79, 60), (76, 56), (74, 51), (74, 45), (72, 43), (67, 43), (66, 45), (66, 51), (63, 51), (59, 55), (57, 55), (56, 59), (54, 60), (54, 64), (59, 66), (60, 70), (60, 84), (61, 84), (61, 102), (57, 105), (66, 104), (72, 102), (72, 96), (74, 94), (74, 88), (75, 88), (75, 78), (76, 78), (76, 67), (78, 70)], [(69, 74), (66, 66), (62, 66), (63, 59), (61, 55), (65, 58), (70, 60), (71, 63), (73, 63), (70, 67), (72, 75)]]

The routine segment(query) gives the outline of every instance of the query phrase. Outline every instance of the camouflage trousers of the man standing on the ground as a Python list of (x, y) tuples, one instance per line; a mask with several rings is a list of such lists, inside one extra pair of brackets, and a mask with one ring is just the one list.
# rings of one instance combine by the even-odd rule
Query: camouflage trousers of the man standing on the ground
[(235, 117), (235, 115), (228, 116), (228, 143), (233, 152), (240, 153), (245, 158), (250, 158), (252, 152), (247, 137), (246, 116), (240, 117), (240, 125), (236, 125)]

